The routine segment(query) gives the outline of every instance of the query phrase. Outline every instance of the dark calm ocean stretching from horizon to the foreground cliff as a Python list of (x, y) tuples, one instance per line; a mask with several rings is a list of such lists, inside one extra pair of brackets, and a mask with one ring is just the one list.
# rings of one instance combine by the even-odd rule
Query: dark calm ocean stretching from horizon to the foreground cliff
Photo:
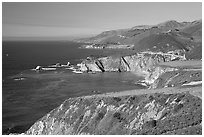
[[(36, 66), (76, 65), (87, 56), (107, 56), (121, 50), (80, 49), (68, 41), (2, 42), (2, 131), (25, 132), (34, 122), (71, 97), (141, 89), (142, 79), (129, 72), (75, 74), (68, 69), (35, 72)], [(97, 92), (95, 92), (97, 91)]]

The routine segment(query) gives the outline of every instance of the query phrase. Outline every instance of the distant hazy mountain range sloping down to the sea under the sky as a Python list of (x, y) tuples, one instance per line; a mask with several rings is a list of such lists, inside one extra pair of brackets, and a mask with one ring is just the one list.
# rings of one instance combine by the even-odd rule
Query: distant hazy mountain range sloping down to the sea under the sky
[[(157, 25), (139, 25), (129, 29), (105, 31), (91, 37), (77, 41), (95, 44), (98, 47), (120, 47), (133, 45), (135, 51), (162, 51), (183, 50), (197, 51), (202, 46), (202, 20), (193, 22), (166, 21)], [(193, 54), (193, 53), (192, 53)]]

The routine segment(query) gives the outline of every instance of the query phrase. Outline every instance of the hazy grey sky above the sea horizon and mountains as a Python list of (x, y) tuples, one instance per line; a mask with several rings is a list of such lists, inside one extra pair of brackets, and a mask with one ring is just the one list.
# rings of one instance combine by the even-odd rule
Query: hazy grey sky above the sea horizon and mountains
[(202, 19), (202, 3), (3, 3), (3, 37), (69, 37)]

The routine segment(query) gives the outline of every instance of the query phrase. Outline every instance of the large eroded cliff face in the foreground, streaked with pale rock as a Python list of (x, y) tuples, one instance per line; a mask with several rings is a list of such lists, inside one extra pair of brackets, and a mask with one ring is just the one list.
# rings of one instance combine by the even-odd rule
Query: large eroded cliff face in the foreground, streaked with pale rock
[(70, 98), (25, 134), (202, 134), (202, 100), (189, 92)]

